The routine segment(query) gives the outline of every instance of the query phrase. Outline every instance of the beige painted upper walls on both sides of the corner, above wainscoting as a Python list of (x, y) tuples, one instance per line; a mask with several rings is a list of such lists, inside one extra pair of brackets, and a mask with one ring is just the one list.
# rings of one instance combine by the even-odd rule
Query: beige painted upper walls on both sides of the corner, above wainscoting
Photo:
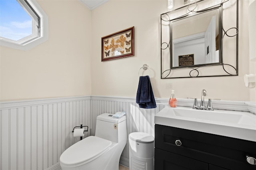
[[(150, 66), (156, 98), (169, 98), (166, 86), (170, 85), (177, 98), (200, 98), (206, 89), (209, 98), (255, 100), (250, 97), (255, 89), (246, 88), (243, 80), (249, 65), (253, 67), (248, 60), (248, 14), (244, 12), (248, 5), (240, 1), (239, 76), (162, 80), (160, 14), (167, 11), (166, 3), (110, 0), (90, 11), (74, 0), (38, 1), (48, 15), (49, 39), (30, 51), (1, 46), (1, 101), (83, 95), (135, 97), (138, 70), (145, 63)], [(135, 56), (101, 62), (101, 37), (132, 26)]]

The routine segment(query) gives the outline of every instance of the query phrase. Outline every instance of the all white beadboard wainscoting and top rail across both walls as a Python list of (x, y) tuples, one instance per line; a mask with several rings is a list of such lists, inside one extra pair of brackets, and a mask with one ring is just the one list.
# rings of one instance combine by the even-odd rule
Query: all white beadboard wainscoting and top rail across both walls
[[(194, 103), (193, 99), (177, 100), (178, 106), (192, 107)], [(73, 137), (73, 127), (87, 125), (89, 130), (83, 138), (94, 135), (96, 117), (117, 111), (126, 111), (127, 144), (120, 163), (129, 166), (128, 134), (145, 132), (154, 136), (154, 115), (168, 105), (168, 99), (156, 98), (155, 109), (141, 109), (135, 101), (126, 97), (81, 96), (1, 102), (0, 170), (60, 170), (60, 155), (80, 140)], [(216, 109), (256, 113), (254, 102), (212, 101), (212, 105)]]

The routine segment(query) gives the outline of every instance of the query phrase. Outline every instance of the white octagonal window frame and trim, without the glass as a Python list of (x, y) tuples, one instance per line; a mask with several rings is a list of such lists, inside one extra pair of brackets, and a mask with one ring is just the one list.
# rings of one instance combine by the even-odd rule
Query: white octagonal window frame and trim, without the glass
[[(35, 0), (17, 0), (22, 8), (30, 15), (33, 34), (18, 41), (0, 37), (0, 45), (27, 51), (48, 39), (48, 16)], [(30, 7), (34, 10), (32, 11)], [(39, 19), (38, 19), (39, 18)]]

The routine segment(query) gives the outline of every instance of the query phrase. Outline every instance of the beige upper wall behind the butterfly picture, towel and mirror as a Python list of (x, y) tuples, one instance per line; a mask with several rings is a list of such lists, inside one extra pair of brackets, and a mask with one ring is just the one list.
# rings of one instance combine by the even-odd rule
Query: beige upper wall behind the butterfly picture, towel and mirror
[[(135, 97), (138, 70), (146, 63), (151, 69), (150, 80), (157, 98), (170, 97), (170, 89), (166, 89), (170, 84), (176, 98), (200, 98), (202, 89), (206, 89), (209, 98), (250, 100), (243, 80), (248, 72), (248, 21), (242, 20), (247, 18), (246, 14), (240, 12), (239, 76), (162, 80), (160, 14), (166, 11), (163, 0), (111, 0), (92, 11), (92, 95)], [(100, 38), (131, 26), (135, 27), (135, 56), (101, 62)]]

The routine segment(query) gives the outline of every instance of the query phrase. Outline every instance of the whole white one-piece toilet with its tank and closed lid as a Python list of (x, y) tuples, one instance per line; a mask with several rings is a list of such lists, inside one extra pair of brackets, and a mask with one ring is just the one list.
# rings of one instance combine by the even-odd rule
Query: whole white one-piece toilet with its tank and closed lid
[(127, 141), (126, 115), (97, 117), (95, 136), (89, 136), (66, 149), (60, 156), (62, 170), (118, 170)]

